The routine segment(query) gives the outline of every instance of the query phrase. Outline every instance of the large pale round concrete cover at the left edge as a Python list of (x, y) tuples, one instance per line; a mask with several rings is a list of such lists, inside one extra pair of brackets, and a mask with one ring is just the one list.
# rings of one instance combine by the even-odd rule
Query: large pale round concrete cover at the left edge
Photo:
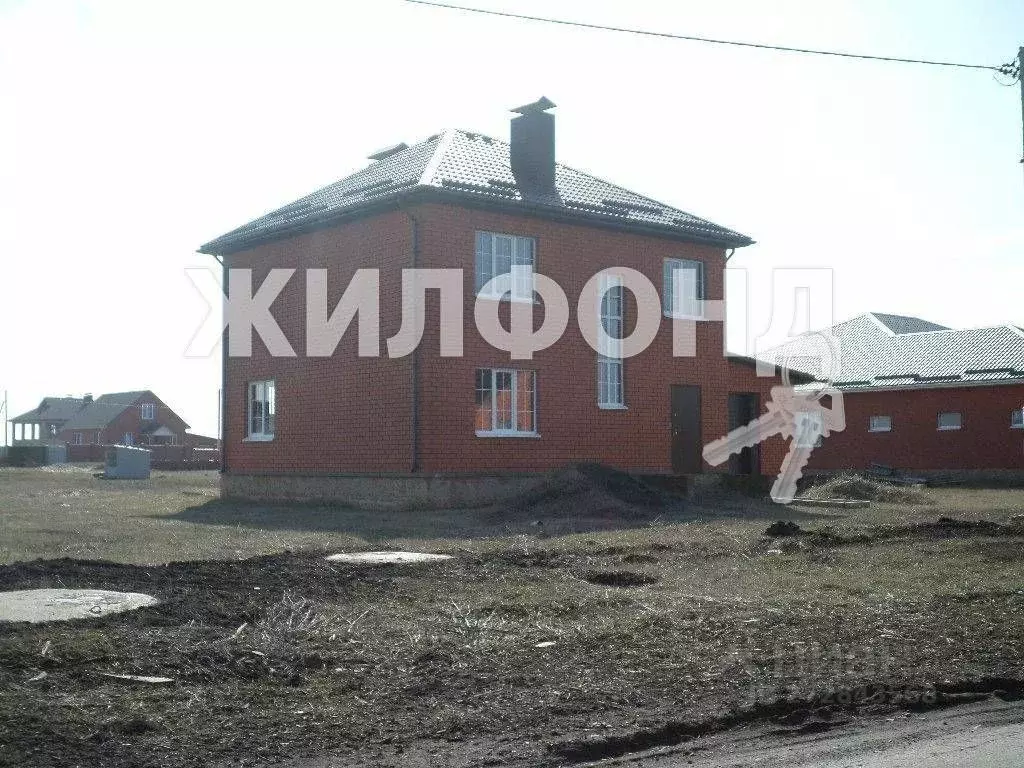
[(68, 622), (97, 618), (146, 605), (157, 598), (106, 590), (19, 590), (0, 592), (0, 622)]

